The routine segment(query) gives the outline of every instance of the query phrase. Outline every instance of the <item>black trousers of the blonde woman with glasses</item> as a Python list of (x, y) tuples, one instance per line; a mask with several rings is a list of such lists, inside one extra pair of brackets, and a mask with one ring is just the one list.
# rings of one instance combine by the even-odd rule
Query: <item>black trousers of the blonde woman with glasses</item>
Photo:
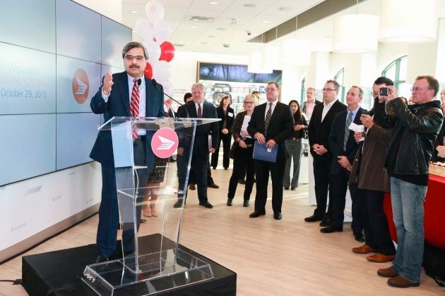
[(255, 177), (254, 159), (252, 159), (253, 154), (254, 147), (247, 147), (246, 149), (237, 147), (233, 159), (232, 176), (229, 181), (229, 192), (227, 192), (228, 198), (232, 199), (235, 197), (238, 180), (244, 178), (244, 172), (247, 172), (246, 185), (244, 187), (244, 200), (250, 199)]

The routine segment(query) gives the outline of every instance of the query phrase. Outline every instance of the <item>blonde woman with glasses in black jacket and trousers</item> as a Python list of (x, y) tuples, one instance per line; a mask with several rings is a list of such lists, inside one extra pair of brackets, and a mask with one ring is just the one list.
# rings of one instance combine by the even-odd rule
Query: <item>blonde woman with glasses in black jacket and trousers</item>
[(244, 171), (246, 172), (246, 187), (244, 187), (244, 202), (243, 206), (249, 206), (250, 194), (254, 187), (254, 142), (247, 133), (247, 125), (250, 121), (250, 116), (254, 112), (255, 96), (247, 94), (243, 101), (244, 111), (239, 112), (235, 117), (232, 125), (233, 142), (230, 149), (230, 158), (233, 159), (233, 171), (229, 181), (229, 192), (227, 193), (227, 206), (232, 206), (232, 199), (235, 197), (239, 178), (244, 178)]

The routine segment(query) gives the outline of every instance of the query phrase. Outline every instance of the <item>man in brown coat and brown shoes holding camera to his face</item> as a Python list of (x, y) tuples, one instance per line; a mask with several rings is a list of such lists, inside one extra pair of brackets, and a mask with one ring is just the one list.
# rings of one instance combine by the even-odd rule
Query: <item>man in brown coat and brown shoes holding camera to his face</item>
[[(379, 77), (372, 86), (374, 109), (384, 108), (386, 87), (394, 85), (386, 77)], [(381, 94), (380, 94), (381, 93)], [(385, 158), (394, 123), (373, 120), (373, 111), (362, 114), (360, 121), (366, 132), (355, 132), (355, 140), (360, 142), (352, 164), (350, 183), (357, 183), (358, 212), (363, 223), (364, 245), (352, 248), (357, 254), (376, 252), (367, 257), (373, 262), (387, 262), (396, 257), (396, 248), (389, 234), (388, 221), (384, 211), (384, 193), (389, 192), (389, 176), (386, 172)], [(364, 140), (362, 137), (364, 136)], [(354, 211), (352, 210), (352, 217)]]

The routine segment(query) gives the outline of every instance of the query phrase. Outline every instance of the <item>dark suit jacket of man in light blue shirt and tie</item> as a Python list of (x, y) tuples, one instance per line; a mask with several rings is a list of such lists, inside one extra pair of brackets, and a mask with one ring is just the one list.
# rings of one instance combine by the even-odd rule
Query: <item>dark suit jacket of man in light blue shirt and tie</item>
[[(360, 115), (365, 111), (361, 107), (358, 109), (357, 114), (355, 114), (355, 118), (353, 123), (360, 125)], [(354, 164), (354, 157), (357, 153), (358, 144), (354, 139), (354, 132), (351, 130), (348, 136), (348, 142), (346, 142), (346, 149), (343, 147), (343, 142), (345, 139), (345, 124), (346, 117), (348, 116), (348, 110), (340, 111), (336, 113), (333, 118), (331, 131), (329, 132), (329, 147), (332, 152), (332, 165), (331, 165), (331, 173), (334, 175), (338, 174), (343, 168), (338, 164), (337, 156), (346, 156), (350, 162), (350, 164)]]

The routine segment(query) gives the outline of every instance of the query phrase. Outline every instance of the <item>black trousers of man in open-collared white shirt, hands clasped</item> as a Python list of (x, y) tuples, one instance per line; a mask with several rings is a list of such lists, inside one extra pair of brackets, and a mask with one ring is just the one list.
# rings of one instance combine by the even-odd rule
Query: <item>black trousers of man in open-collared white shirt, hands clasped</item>
[[(318, 167), (315, 164), (314, 159), (314, 181), (315, 181), (315, 198), (316, 209), (314, 215), (321, 219), (332, 218), (332, 190), (331, 190), (331, 168)], [(326, 212), (326, 204), (328, 203), (329, 192), (329, 205)]]

